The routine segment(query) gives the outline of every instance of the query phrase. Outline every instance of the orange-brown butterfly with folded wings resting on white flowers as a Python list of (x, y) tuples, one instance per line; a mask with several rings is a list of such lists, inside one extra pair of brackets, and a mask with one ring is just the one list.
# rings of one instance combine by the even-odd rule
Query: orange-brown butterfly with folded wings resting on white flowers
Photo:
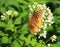
[(39, 32), (39, 27), (42, 25), (42, 11), (39, 10), (32, 14), (29, 19), (29, 30), (32, 34)]

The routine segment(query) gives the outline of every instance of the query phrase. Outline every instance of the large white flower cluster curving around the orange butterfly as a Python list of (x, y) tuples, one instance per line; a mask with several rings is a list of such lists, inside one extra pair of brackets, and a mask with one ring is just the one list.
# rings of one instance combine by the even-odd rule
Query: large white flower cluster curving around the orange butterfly
[(46, 4), (37, 4), (36, 2), (34, 2), (34, 4), (32, 6), (29, 5), (29, 9), (30, 9), (30, 13), (29, 13), (29, 18), (32, 17), (32, 14), (34, 12), (37, 12), (39, 10), (42, 10), (42, 26), (39, 27), (39, 30), (42, 31), (41, 29), (43, 29), (43, 33), (40, 34), (39, 38), (41, 36), (43, 36), (44, 38), (46, 38), (46, 28), (48, 26), (51, 26), (51, 24), (54, 23), (53, 21), (53, 14), (51, 12), (51, 10), (49, 9), (49, 7), (46, 6)]

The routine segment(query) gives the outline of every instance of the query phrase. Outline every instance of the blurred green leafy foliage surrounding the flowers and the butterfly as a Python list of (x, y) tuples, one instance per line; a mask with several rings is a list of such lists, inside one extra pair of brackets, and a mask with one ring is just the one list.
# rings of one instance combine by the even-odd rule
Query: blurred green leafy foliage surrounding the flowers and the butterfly
[[(29, 5), (34, 2), (46, 4), (50, 7), (55, 23), (48, 27), (49, 36), (55, 34), (57, 41), (51, 43), (51, 47), (60, 47), (60, 0), (0, 0), (1, 15), (8, 10), (15, 10), (18, 16), (14, 16), (10, 23), (0, 20), (0, 47), (45, 47), (37, 36), (31, 35), (28, 28)], [(47, 46), (46, 46), (47, 47)]]

